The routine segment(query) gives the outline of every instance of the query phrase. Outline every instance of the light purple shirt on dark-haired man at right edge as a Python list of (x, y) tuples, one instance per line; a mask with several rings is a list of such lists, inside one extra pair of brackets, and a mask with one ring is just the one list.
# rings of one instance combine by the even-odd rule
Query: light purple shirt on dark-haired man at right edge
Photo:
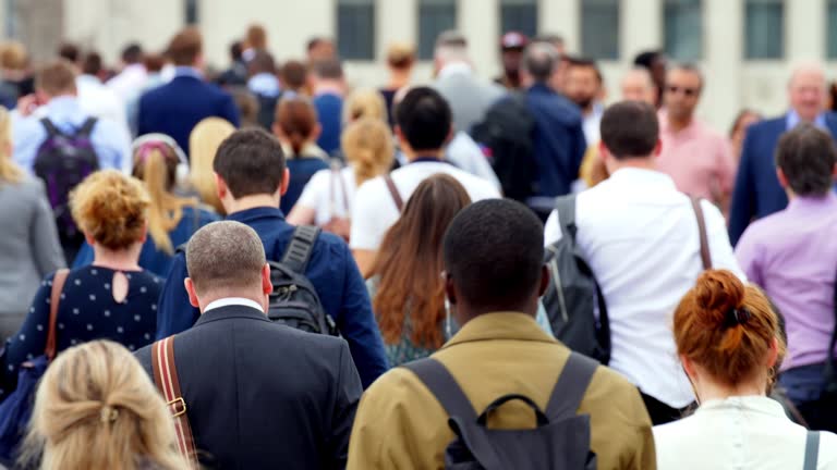
[(785, 316), (783, 370), (824, 362), (834, 330), (837, 196), (791, 199), (787, 209), (747, 228), (736, 256)]

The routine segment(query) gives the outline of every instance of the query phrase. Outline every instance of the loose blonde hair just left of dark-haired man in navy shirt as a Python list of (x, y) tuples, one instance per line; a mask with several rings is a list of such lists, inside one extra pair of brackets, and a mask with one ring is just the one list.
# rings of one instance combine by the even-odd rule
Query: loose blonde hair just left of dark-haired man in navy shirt
[(220, 118), (207, 118), (192, 129), (189, 136), (190, 180), (201, 200), (226, 214), (218, 198), (213, 162), (221, 143), (235, 132), (235, 127)]

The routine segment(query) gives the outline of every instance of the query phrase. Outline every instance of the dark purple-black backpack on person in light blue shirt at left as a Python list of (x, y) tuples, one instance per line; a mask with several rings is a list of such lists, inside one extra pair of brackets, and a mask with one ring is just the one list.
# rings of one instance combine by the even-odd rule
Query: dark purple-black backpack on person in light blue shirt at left
[(68, 199), (78, 183), (99, 169), (99, 159), (90, 141), (96, 119), (88, 118), (72, 134), (64, 134), (46, 118), (40, 122), (47, 131), (47, 138), (35, 154), (33, 169), (47, 187), (64, 253), (73, 256), (84, 243), (84, 234), (73, 221)]

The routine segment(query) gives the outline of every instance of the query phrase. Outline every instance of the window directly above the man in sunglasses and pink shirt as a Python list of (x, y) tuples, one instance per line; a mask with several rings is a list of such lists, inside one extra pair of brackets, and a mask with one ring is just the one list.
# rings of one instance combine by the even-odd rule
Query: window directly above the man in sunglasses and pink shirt
[(666, 0), (663, 8), (666, 54), (679, 61), (696, 61), (703, 53), (701, 0)]

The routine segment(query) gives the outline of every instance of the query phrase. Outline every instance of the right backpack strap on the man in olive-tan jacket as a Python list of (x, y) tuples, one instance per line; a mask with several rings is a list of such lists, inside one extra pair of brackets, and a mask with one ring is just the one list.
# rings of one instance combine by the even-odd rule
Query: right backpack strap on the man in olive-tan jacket
[(570, 352), (546, 406), (549, 420), (575, 416), (597, 367), (598, 362), (595, 360)]

